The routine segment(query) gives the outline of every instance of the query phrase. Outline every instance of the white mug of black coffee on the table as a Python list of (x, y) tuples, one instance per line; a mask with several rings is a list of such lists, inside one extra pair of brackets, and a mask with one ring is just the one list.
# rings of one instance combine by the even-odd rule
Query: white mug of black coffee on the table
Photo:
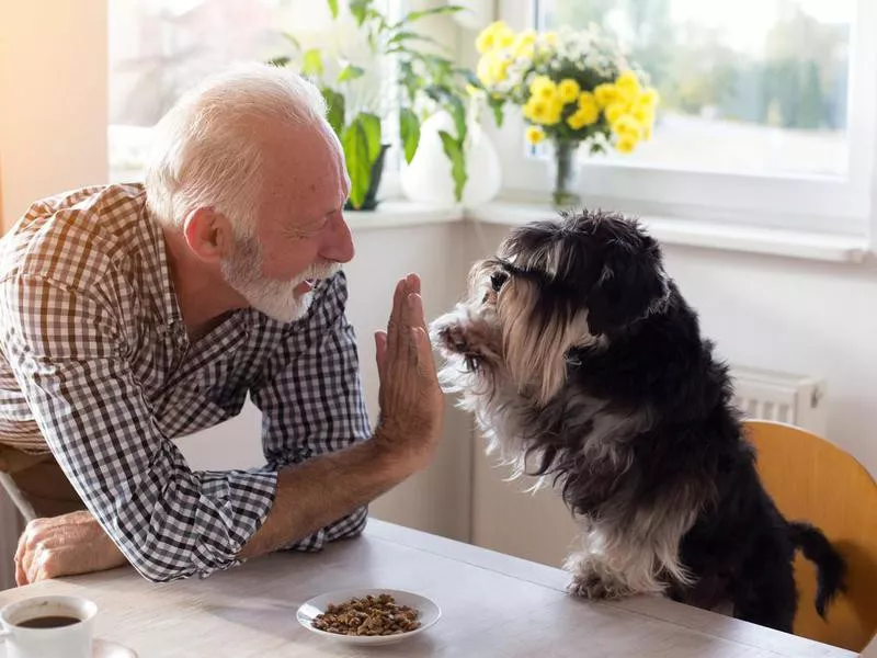
[(10, 603), (0, 610), (7, 658), (92, 658), (95, 614), (98, 606), (80, 597), (32, 597)]

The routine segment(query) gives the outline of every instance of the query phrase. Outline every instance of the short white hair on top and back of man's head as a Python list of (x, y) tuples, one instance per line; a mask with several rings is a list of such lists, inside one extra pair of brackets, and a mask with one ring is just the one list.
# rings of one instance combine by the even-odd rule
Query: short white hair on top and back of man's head
[(150, 212), (168, 226), (212, 207), (238, 239), (255, 231), (262, 185), (261, 122), (289, 126), (324, 122), (319, 90), (271, 65), (238, 65), (187, 91), (156, 126), (146, 172)]

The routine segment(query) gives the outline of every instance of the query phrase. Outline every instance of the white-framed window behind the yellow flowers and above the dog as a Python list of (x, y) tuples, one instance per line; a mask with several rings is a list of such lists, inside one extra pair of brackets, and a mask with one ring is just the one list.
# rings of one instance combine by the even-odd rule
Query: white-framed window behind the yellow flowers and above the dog
[[(631, 156), (584, 156), (590, 197), (651, 214), (865, 230), (877, 4), (501, 0), (501, 8), (517, 29), (600, 24), (661, 93), (649, 143)], [(539, 180), (537, 163), (517, 145), (521, 167), (509, 182), (533, 190), (526, 181)]]

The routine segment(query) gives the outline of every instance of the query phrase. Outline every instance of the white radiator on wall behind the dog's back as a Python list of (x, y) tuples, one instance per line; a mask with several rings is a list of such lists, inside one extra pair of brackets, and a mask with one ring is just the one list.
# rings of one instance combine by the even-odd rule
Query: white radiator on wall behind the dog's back
[(775, 420), (825, 435), (825, 381), (818, 377), (733, 366), (734, 401), (747, 418)]

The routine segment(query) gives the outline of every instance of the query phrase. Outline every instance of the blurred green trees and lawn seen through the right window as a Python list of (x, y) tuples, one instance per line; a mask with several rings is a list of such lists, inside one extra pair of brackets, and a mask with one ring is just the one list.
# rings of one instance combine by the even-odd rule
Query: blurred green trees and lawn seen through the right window
[(766, 35), (760, 53), (736, 52), (718, 33), (677, 23), (672, 0), (557, 0), (546, 26), (608, 29), (620, 10), (630, 57), (658, 89), (665, 111), (709, 112), (729, 121), (784, 128), (846, 125), (848, 26), (830, 25), (796, 3)]

